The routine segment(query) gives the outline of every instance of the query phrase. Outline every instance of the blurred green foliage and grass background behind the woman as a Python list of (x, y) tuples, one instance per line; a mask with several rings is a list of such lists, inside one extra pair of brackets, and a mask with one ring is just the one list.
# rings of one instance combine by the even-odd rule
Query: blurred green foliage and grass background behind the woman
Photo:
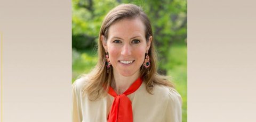
[(72, 83), (97, 63), (97, 39), (103, 18), (115, 6), (141, 6), (153, 26), (159, 56), (158, 72), (171, 76), (182, 97), (187, 121), (187, 1), (72, 0)]

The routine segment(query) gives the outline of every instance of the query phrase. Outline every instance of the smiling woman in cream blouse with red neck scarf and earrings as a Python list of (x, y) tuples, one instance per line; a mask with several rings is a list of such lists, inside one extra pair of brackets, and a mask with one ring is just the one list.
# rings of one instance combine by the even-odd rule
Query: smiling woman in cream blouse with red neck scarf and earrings
[(73, 84), (73, 121), (181, 121), (181, 97), (157, 74), (147, 15), (132, 4), (103, 20), (99, 60)]

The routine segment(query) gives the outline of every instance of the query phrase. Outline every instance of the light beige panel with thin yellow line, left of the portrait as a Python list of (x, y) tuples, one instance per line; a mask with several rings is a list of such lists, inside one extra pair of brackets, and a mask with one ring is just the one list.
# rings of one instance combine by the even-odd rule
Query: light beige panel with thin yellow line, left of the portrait
[(3, 121), (71, 121), (71, 1), (0, 3)]

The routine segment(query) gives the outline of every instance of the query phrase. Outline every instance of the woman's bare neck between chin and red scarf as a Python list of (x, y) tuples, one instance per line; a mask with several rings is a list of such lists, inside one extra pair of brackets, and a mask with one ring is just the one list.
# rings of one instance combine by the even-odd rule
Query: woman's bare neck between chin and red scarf
[(113, 74), (114, 81), (111, 83), (111, 87), (116, 91), (117, 94), (123, 94), (139, 77), (139, 73), (135, 73), (132, 76), (123, 76), (114, 71)]

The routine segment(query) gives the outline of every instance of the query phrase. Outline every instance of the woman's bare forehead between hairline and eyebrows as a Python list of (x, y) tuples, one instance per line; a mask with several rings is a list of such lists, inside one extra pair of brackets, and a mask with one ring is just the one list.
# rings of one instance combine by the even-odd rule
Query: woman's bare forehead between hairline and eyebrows
[(145, 37), (146, 27), (139, 18), (122, 19), (109, 27), (109, 37), (129, 37), (129, 36), (141, 36)]

